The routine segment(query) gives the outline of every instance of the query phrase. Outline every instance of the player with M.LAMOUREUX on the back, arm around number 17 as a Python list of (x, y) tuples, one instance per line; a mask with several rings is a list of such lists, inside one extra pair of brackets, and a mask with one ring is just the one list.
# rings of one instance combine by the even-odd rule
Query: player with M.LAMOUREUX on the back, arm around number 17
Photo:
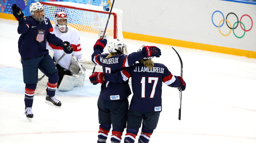
[[(107, 44), (110, 54), (101, 54)], [(155, 46), (143, 47), (142, 51), (134, 52), (127, 55), (127, 49), (124, 42), (119, 39), (107, 40), (99, 39), (94, 45), (94, 53), (92, 61), (102, 66), (104, 73), (115, 73), (132, 66), (136, 61), (144, 57), (160, 57), (161, 51)], [(90, 80), (101, 78), (93, 73)], [(97, 84), (96, 82), (92, 82)], [(128, 96), (131, 90), (128, 80), (123, 83), (104, 82), (101, 84), (101, 91), (98, 98), (98, 116), (99, 116), (99, 132), (97, 143), (105, 143), (112, 124), (111, 142), (120, 143), (122, 134), (126, 128), (128, 113)]]

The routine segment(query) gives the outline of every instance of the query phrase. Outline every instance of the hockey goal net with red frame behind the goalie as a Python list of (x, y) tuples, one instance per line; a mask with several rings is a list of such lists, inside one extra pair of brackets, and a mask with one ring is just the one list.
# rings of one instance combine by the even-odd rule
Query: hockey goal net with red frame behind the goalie
[[(91, 55), (93, 46), (99, 38), (102, 38), (106, 27), (109, 11), (104, 11), (102, 6), (87, 5), (73, 2), (40, 2), (44, 5), (46, 17), (54, 24), (54, 16), (57, 12), (63, 11), (68, 16), (68, 26), (78, 30), (83, 52), (82, 62), (93, 64)], [(105, 33), (105, 38), (120, 39), (124, 41), (122, 33), (121, 9), (113, 8)], [(101, 36), (101, 37), (100, 37)], [(104, 53), (107, 48), (104, 49)]]

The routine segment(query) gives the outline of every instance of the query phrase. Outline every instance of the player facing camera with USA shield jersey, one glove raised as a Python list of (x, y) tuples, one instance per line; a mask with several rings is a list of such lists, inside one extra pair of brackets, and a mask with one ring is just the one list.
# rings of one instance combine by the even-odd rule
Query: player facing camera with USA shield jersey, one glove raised
[(49, 77), (45, 102), (56, 108), (61, 108), (61, 102), (55, 96), (59, 80), (58, 70), (46, 49), (46, 40), (55, 46), (61, 46), (67, 54), (71, 54), (73, 49), (69, 42), (63, 42), (51, 33), (53, 27), (50, 20), (45, 17), (45, 10), (41, 3), (31, 3), (29, 10), (31, 16), (24, 17), (20, 7), (16, 4), (12, 5), (12, 13), (19, 21), (18, 33), (21, 34), (18, 48), (23, 67), (23, 80), (26, 84), (24, 114), (31, 121), (34, 116), (32, 105), (38, 80), (38, 68)]

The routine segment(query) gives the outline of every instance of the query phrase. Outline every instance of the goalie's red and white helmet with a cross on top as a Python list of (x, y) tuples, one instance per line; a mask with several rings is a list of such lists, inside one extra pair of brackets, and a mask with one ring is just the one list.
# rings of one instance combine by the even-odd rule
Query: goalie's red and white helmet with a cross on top
[[(60, 19), (63, 19), (63, 22), (59, 22)], [(58, 28), (59, 28), (59, 30), (61, 32), (65, 32), (66, 31), (67, 22), (68, 22), (68, 17), (67, 17), (66, 13), (64, 13), (63, 11), (60, 11), (60, 12), (55, 14), (54, 23), (55, 23), (55, 25), (58, 26)]]

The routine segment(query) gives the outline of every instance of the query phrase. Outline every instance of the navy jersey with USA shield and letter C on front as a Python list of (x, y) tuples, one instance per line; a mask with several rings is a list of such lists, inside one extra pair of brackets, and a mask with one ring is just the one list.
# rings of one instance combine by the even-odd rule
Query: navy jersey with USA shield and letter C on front
[(41, 22), (36, 21), (32, 16), (24, 17), (18, 26), (18, 33), (21, 34), (18, 41), (21, 58), (36, 58), (49, 54), (46, 40), (55, 46), (64, 45), (65, 43), (51, 33), (52, 31), (52, 24), (47, 17)]

